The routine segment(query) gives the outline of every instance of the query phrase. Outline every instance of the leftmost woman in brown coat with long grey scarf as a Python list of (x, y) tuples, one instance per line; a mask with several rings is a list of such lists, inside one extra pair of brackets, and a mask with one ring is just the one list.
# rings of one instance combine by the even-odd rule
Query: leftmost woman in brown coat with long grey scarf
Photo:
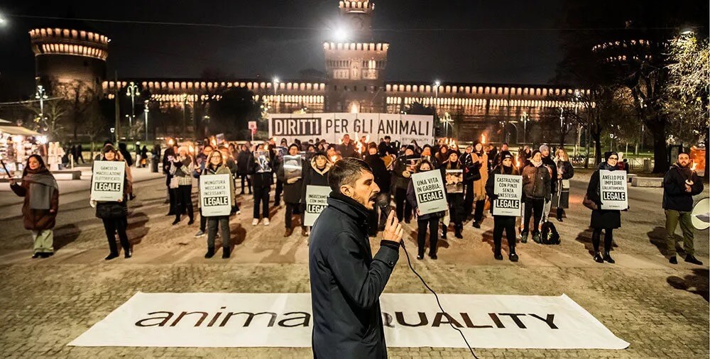
[(23, 224), (32, 233), (32, 258), (48, 258), (54, 254), (54, 232), (59, 210), (59, 186), (39, 155), (31, 155), (22, 171), (22, 183), (10, 180), (10, 188), (22, 205)]

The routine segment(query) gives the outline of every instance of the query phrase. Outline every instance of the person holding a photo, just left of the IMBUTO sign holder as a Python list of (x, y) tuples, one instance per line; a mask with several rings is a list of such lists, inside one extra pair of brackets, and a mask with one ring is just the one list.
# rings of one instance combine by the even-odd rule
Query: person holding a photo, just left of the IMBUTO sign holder
[[(298, 145), (292, 143), (288, 146), (288, 155), (283, 156), (283, 162), (278, 166), (276, 178), (283, 182), (283, 201), (286, 204), (284, 237), (293, 233), (293, 212), (300, 206), (303, 190), (303, 169), (301, 156), (298, 155)], [(303, 213), (301, 212), (301, 235), (306, 236), (306, 226), (303, 226)]]

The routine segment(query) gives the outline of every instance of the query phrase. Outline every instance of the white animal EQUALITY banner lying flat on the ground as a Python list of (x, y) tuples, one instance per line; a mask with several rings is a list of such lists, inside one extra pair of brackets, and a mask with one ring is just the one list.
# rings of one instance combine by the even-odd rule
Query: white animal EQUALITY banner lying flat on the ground
[[(624, 349), (628, 343), (562, 294), (382, 294), (387, 346)], [(70, 346), (310, 347), (308, 293), (141, 293)]]

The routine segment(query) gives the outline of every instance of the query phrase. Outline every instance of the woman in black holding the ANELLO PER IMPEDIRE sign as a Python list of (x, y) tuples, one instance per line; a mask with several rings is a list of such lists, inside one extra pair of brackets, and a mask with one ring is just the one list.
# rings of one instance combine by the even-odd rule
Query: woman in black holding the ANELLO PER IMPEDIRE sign
[[(613, 229), (621, 227), (621, 212), (618, 210), (601, 209), (601, 194), (599, 188), (599, 171), (616, 171), (618, 170), (618, 153), (604, 153), (604, 162), (601, 162), (599, 168), (594, 171), (589, 180), (589, 186), (586, 187), (586, 198), (594, 202), (596, 209), (591, 210), (591, 245), (594, 249), (594, 261), (596, 263), (615, 263), (609, 255), (611, 244), (613, 243)], [(604, 255), (599, 254), (599, 237), (601, 230), (604, 230)]]

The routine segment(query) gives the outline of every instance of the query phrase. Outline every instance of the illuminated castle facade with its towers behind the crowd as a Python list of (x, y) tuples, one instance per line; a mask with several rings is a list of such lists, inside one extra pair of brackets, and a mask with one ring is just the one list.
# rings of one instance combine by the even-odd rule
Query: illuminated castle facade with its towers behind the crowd
[[(373, 38), (374, 12), (371, 1), (339, 1), (340, 22), (346, 24), (349, 36), (324, 41), (326, 78), (320, 82), (159, 77), (115, 82), (105, 77), (107, 36), (72, 28), (35, 28), (30, 36), (40, 79), (90, 82), (109, 98), (117, 92), (124, 94), (126, 86), (134, 82), (141, 91), (150, 92), (153, 104), (187, 106), (193, 123), (201, 118), (195, 109), (204, 109), (204, 101), (230, 87), (249, 89), (272, 113), (304, 109), (316, 113), (401, 113), (415, 103), (433, 105), (440, 117), (458, 119), (459, 138), (491, 133), (491, 140), (513, 143), (523, 141), (523, 131), (530, 131), (528, 121), (535, 123), (542, 111), (581, 106), (570, 100), (579, 90), (567, 87), (463, 82), (442, 82), (437, 87), (433, 82), (385, 81), (390, 44)], [(450, 129), (448, 133), (452, 133)], [(496, 138), (496, 133), (501, 135)]]

